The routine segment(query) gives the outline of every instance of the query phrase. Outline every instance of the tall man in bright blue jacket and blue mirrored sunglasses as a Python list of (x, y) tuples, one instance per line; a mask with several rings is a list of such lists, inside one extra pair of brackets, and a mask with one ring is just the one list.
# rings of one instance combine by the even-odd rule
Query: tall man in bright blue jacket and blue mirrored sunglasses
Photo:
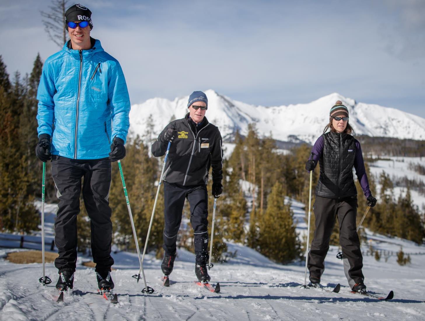
[(36, 155), (43, 162), (51, 159), (59, 198), (54, 226), (59, 251), (56, 287), (73, 288), (82, 189), (99, 289), (108, 290), (114, 287), (111, 161), (125, 156), (130, 99), (119, 62), (90, 37), (91, 11), (76, 4), (65, 12), (65, 20), (70, 40), (45, 61), (37, 93)]

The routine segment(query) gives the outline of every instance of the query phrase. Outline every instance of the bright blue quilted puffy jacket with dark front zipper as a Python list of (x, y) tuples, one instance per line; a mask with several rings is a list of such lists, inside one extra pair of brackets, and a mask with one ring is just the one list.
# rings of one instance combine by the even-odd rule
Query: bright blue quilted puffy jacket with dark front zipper
[(38, 86), (38, 135), (51, 153), (73, 159), (108, 157), (113, 138), (127, 138), (130, 99), (119, 62), (99, 40), (88, 50), (65, 44), (48, 57)]

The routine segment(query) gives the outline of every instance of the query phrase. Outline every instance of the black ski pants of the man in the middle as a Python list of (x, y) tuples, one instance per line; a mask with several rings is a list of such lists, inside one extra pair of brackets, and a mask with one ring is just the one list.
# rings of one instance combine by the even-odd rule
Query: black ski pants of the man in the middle
[(190, 205), (190, 223), (195, 243), (195, 264), (205, 265), (208, 253), (208, 194), (206, 185), (182, 186), (164, 181), (164, 251), (176, 255), (176, 241), (180, 228), (184, 200)]

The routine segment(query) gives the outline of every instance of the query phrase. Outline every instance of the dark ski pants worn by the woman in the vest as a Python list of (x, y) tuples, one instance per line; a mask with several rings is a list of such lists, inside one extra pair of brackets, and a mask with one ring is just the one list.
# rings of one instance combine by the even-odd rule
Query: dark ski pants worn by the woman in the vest
[(356, 231), (357, 197), (333, 199), (316, 196), (314, 202), (316, 230), (309, 252), (308, 268), (310, 275), (320, 278), (325, 269), (324, 261), (329, 250), (329, 241), (335, 225), (335, 217), (340, 224), (340, 245), (343, 251), (348, 284), (363, 282), (363, 256), (360, 239)]

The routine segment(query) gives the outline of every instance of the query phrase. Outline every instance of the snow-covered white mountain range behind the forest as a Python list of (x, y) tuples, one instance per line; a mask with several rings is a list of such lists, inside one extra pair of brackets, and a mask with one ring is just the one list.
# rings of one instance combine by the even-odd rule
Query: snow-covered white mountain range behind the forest
[[(246, 104), (212, 89), (204, 93), (208, 97), (206, 116), (218, 126), (224, 140), (231, 139), (237, 130), (246, 135), (248, 124), (255, 123), (260, 135), (272, 133), (272, 137), (280, 141), (295, 139), (312, 144), (328, 124), (329, 110), (338, 100), (348, 108), (355, 135), (425, 139), (424, 118), (394, 108), (357, 102), (339, 93), (305, 104), (272, 107)], [(142, 135), (147, 119), (152, 115), (154, 131), (159, 134), (170, 119), (184, 117), (188, 99), (189, 96), (177, 97), (173, 101), (153, 98), (134, 104), (130, 111), (131, 132)]]

